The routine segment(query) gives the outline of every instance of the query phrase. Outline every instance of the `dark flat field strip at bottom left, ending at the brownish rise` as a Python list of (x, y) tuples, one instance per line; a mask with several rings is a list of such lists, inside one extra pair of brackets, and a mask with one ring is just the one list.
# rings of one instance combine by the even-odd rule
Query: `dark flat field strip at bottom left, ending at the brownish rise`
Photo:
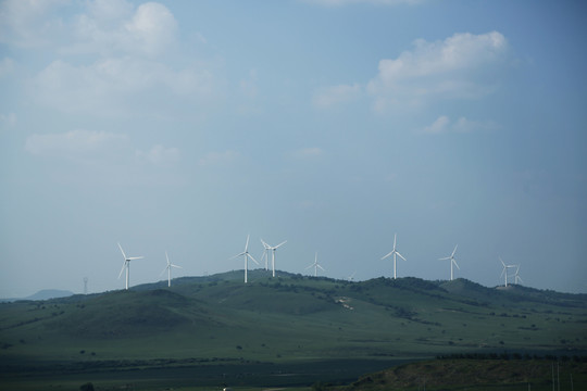
[[(399, 361), (336, 360), (288, 364), (232, 362), (198, 364), (101, 363), (82, 367), (75, 363), (3, 363), (2, 390), (79, 390), (91, 382), (97, 390), (192, 390), (195, 388), (302, 388), (316, 382), (344, 384), (360, 376), (398, 365)], [(117, 365), (116, 365), (117, 364)]]

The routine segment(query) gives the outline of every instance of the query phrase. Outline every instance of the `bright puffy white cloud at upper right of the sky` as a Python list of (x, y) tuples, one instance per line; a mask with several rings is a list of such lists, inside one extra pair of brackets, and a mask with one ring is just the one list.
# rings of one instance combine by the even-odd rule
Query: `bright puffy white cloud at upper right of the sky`
[(454, 34), (435, 42), (419, 39), (413, 50), (379, 61), (367, 91), (378, 111), (399, 102), (480, 98), (495, 90), (495, 81), (485, 80), (485, 73), (494, 71), (507, 51), (505, 37), (498, 31)]

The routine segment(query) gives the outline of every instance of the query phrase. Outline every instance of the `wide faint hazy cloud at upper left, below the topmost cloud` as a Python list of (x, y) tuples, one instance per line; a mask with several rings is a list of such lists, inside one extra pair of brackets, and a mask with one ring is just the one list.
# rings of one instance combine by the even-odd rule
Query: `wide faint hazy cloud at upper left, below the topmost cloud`
[[(207, 70), (174, 71), (145, 59), (105, 59), (88, 66), (54, 61), (29, 86), (30, 94), (64, 112), (128, 113), (147, 104), (160, 108), (168, 96), (214, 100), (217, 91)], [(146, 102), (148, 92), (153, 92)], [(133, 98), (133, 99), (132, 99)]]

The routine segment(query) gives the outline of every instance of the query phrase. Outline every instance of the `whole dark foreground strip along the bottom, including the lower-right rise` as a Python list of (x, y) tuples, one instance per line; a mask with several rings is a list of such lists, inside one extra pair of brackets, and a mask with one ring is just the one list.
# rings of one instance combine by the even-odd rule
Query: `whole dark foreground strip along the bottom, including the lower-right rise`
[[(112, 364), (112, 363), (111, 363)], [(125, 367), (125, 365), (130, 365)], [(76, 365), (42, 365), (1, 379), (2, 390), (587, 390), (585, 358), (445, 358), (413, 363), (339, 360), (299, 364), (118, 363), (80, 371)], [(369, 373), (373, 368), (382, 370)], [(4, 374), (5, 375), (5, 374)], [(311, 386), (309, 386), (311, 384)], [(554, 386), (554, 388), (553, 388)]]

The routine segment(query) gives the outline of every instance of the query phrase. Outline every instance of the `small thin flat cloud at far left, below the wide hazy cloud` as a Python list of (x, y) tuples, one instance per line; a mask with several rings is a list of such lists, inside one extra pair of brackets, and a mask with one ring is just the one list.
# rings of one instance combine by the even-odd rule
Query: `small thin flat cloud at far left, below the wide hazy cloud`
[(84, 157), (126, 140), (125, 135), (77, 129), (62, 134), (30, 135), (25, 150), (39, 156)]

